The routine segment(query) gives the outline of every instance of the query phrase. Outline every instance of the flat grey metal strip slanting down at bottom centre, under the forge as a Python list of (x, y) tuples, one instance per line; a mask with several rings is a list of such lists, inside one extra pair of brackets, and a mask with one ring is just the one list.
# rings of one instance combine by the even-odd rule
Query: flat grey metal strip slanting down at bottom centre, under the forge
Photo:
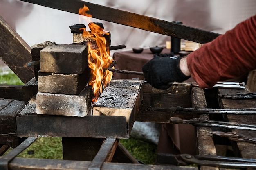
[[(92, 162), (90, 163), (90, 166), (88, 170), (100, 170), (103, 163), (106, 161), (108, 155), (110, 154), (111, 150), (114, 148), (116, 149), (118, 144), (118, 140), (114, 137), (107, 137), (103, 144), (101, 145), (101, 148), (99, 149), (99, 152), (94, 157)], [(115, 152), (115, 151), (114, 151)], [(112, 159), (112, 158), (111, 158)], [(111, 160), (110, 160), (111, 161)]]

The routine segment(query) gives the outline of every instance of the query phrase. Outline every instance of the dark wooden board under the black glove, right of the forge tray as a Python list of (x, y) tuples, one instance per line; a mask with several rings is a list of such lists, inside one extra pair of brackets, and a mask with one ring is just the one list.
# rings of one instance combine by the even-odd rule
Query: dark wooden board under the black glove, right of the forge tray
[(164, 113), (160, 111), (148, 111), (148, 109), (160, 109), (165, 107), (192, 107), (191, 83), (173, 83), (166, 90), (153, 88), (148, 83), (143, 83), (143, 100), (136, 121), (169, 123), (170, 117), (191, 119), (192, 115)]

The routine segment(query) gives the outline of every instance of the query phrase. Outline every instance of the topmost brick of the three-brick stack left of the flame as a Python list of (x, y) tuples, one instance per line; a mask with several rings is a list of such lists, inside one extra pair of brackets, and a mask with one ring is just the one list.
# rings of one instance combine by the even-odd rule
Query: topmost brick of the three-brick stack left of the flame
[(40, 51), (41, 72), (82, 74), (87, 67), (87, 45), (50, 44)]

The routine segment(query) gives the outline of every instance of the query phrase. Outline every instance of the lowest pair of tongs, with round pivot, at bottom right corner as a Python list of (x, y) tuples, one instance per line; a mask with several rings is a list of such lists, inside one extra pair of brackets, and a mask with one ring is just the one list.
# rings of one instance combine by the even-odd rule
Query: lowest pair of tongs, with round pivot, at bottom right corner
[(220, 168), (255, 168), (256, 159), (236, 158), (236, 157), (222, 157), (211, 155), (173, 155), (167, 153), (157, 154), (157, 162), (162, 164), (172, 164), (177, 166), (187, 166), (197, 164), (200, 166), (214, 166)]

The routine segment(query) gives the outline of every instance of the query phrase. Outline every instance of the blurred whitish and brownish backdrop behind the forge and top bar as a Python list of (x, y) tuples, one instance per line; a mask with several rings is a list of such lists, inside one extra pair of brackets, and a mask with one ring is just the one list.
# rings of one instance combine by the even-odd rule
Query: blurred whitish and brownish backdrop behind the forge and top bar
[[(255, 15), (255, 0), (87, 0), (115, 9), (130, 11), (166, 21), (179, 20), (184, 25), (216, 33), (225, 33), (239, 22)], [(27, 42), (29, 46), (45, 41), (57, 44), (72, 43), (69, 26), (85, 24), (87, 17), (56, 9), (42, 7), (19, 0), (0, 0), (0, 15)], [(125, 44), (133, 47), (165, 45), (170, 37), (149, 31), (102, 22), (111, 32), (111, 45)]]

